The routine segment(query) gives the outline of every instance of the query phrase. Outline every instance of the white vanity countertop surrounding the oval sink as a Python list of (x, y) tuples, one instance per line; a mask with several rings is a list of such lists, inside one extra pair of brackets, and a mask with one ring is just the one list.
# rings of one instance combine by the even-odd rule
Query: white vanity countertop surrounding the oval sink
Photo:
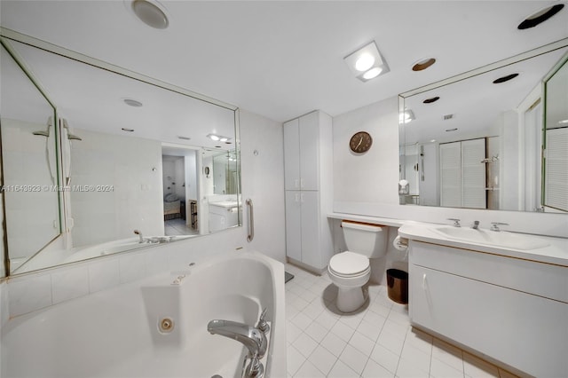
[(433, 228), (439, 225), (440, 224), (407, 221), (403, 222), (401, 227), (398, 228), (398, 235), (409, 240), (424, 241), (448, 247), (470, 249), (493, 255), (516, 257), (539, 263), (556, 264), (568, 267), (568, 239), (516, 233), (519, 237), (546, 241), (548, 243), (547, 247), (521, 250), (444, 237), (438, 232), (433, 231)]

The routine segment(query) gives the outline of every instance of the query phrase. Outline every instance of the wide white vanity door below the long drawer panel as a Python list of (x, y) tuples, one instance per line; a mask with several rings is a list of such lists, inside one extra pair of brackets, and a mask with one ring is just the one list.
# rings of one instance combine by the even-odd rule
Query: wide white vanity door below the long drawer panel
[(568, 376), (568, 304), (410, 264), (412, 322), (534, 376)]

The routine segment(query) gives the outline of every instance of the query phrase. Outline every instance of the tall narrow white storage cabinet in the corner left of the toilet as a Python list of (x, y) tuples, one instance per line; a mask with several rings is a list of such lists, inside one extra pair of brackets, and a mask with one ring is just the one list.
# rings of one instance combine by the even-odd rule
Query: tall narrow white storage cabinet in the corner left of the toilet
[(286, 255), (323, 272), (333, 255), (331, 116), (315, 111), (284, 123)]

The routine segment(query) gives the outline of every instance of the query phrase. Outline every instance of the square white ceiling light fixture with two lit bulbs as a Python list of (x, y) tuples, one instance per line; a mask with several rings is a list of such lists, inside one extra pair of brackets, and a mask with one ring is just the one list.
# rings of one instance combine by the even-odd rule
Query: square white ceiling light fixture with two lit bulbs
[(361, 82), (367, 82), (376, 76), (389, 72), (389, 66), (383, 60), (375, 41), (367, 43), (358, 51), (354, 51), (345, 58), (345, 63), (351, 72)]

